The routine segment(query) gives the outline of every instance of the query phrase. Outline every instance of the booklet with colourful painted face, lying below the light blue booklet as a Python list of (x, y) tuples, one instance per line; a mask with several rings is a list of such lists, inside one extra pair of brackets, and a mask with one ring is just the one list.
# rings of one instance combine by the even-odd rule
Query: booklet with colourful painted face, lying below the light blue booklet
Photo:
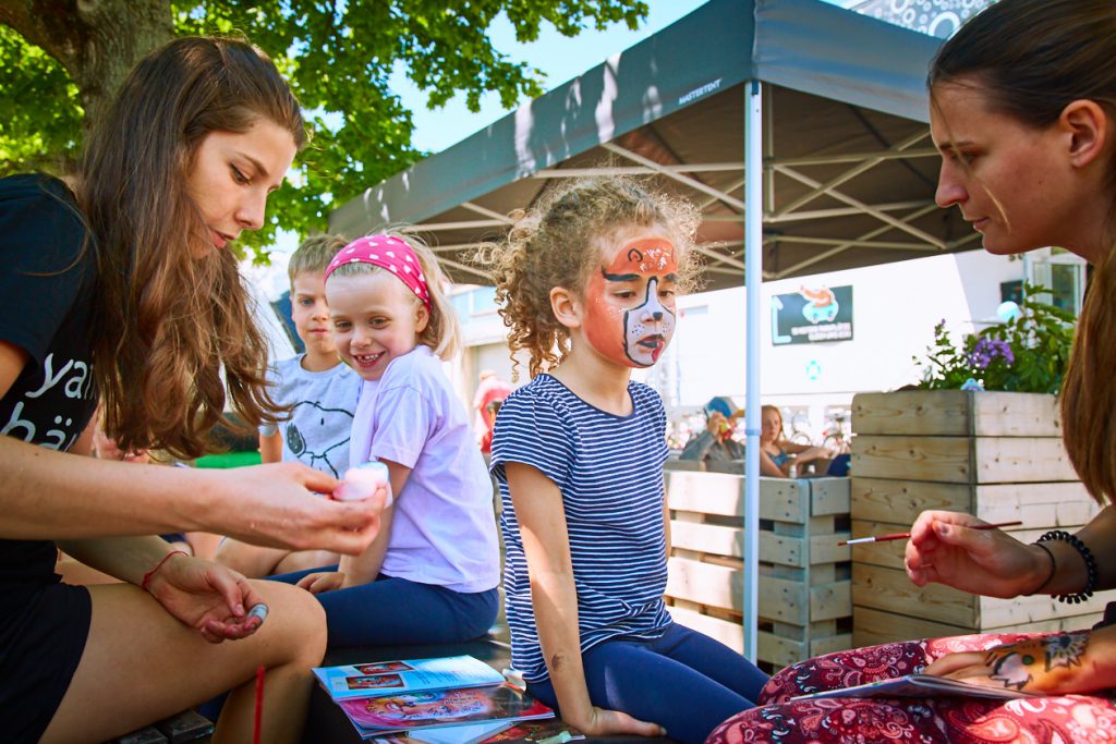
[(548, 718), (554, 711), (508, 684), (433, 689), (338, 703), (362, 738), (431, 726)]

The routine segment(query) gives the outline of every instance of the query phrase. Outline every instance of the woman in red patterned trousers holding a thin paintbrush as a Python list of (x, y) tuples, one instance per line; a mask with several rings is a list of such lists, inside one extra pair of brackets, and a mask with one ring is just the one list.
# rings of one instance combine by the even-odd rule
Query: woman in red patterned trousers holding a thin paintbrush
[[(1078, 602), (1116, 588), (1116, 3), (1001, 0), (945, 42), (932, 65), (937, 202), (956, 205), (984, 249), (1066, 248), (1095, 268), (1061, 393), (1066, 450), (1101, 505), (1070, 534), (1021, 543), (969, 514), (930, 511), (911, 530), (911, 580), (989, 597)], [(791, 700), (908, 673), (1040, 697)], [(1093, 629), (888, 644), (792, 665), (761, 707), (711, 742), (1035, 742), (1116, 738), (1116, 606)], [(767, 704), (766, 706), (763, 704)]]

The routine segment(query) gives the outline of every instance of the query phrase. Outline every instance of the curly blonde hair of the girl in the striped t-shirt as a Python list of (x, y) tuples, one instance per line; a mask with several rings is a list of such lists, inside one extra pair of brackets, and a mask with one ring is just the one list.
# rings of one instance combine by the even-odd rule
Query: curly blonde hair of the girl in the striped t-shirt
[(499, 244), (482, 247), (478, 262), (496, 281), (497, 303), (510, 329), (512, 379), (519, 377), (514, 354), (527, 349), (529, 374), (556, 367), (569, 352), (569, 330), (550, 309), (550, 290), (564, 287), (584, 297), (590, 271), (600, 262), (602, 241), (627, 228), (661, 226), (677, 251), (679, 290), (692, 289), (698, 209), (682, 199), (651, 191), (634, 178), (602, 176), (576, 180), (545, 194)]

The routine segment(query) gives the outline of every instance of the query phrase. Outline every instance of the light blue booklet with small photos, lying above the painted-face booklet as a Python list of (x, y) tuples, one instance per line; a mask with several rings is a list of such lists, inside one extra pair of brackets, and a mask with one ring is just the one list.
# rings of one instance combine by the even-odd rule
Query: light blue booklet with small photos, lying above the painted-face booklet
[(316, 667), (314, 674), (337, 702), (503, 682), (502, 674), (472, 656)]

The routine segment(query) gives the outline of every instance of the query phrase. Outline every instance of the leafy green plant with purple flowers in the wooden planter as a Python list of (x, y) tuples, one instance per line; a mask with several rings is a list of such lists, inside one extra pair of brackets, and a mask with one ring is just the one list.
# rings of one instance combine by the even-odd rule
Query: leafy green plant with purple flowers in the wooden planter
[(966, 335), (960, 348), (944, 320), (935, 326), (925, 358), (914, 358), (924, 373), (920, 387), (958, 389), (973, 380), (985, 390), (1057, 394), (1074, 345), (1075, 318), (1036, 299), (1042, 294), (1049, 290), (1027, 284), (1016, 318)]

